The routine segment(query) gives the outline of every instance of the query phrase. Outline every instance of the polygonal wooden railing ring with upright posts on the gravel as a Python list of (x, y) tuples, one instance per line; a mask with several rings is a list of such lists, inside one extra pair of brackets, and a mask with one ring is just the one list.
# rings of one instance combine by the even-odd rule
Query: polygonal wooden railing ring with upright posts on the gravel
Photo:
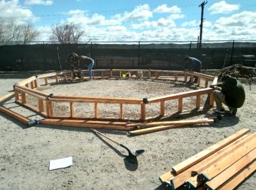
[[(172, 95), (167, 95), (163, 97), (156, 97), (152, 99), (133, 99), (133, 98), (116, 98), (116, 97), (88, 97), (88, 96), (73, 96), (73, 95), (53, 95), (49, 93), (45, 93), (42, 91), (36, 90), (39, 87), (39, 79), (44, 79), (44, 84), (49, 84), (49, 79), (54, 79), (54, 83), (60, 83), (60, 81), (68, 81), (68, 77), (74, 80), (73, 72), (70, 70), (66, 70), (63, 72), (52, 72), (49, 74), (42, 74), (33, 77), (29, 77), (13, 86), (15, 92), (15, 100), (22, 106), (28, 107), (32, 109), (36, 113), (40, 115), (46, 116), (47, 118), (79, 118), (79, 119), (89, 119), (92, 117), (77, 117), (74, 113), (74, 103), (76, 102), (84, 102), (84, 103), (92, 103), (94, 104), (94, 116), (93, 118), (99, 117), (99, 104), (119, 104), (120, 106), (120, 117), (116, 119), (129, 119), (124, 118), (124, 105), (138, 105), (140, 107), (140, 118), (138, 120), (147, 120), (147, 104), (159, 103), (160, 104), (160, 116), (164, 116), (164, 102), (169, 100), (179, 100), (178, 111), (182, 112), (182, 100), (186, 97), (196, 97), (196, 109), (200, 109), (200, 97), (201, 95), (209, 95), (210, 106), (213, 106), (214, 97), (212, 88), (208, 88), (209, 81), (214, 81), (214, 77), (211, 75), (200, 74), (196, 72), (182, 72), (182, 71), (171, 71), (171, 70), (118, 70), (118, 69), (103, 69), (103, 70), (93, 70), (93, 77), (96, 78), (105, 78), (105, 77), (123, 77), (123, 73), (127, 73), (127, 78), (132, 77), (132, 73), (142, 71), (144, 75), (141, 75), (141, 78), (150, 78), (150, 79), (174, 79), (175, 81), (184, 81), (188, 82), (188, 76), (191, 77), (191, 81), (193, 81), (193, 77), (198, 77), (197, 85), (200, 86), (200, 83), (204, 80), (205, 85), (204, 89), (187, 91)], [(74, 72), (77, 72), (76, 70)], [(87, 72), (87, 70), (82, 70), (81, 72)], [(163, 75), (164, 74), (164, 75)], [(86, 77), (83, 77), (83, 80)], [(76, 80), (76, 79), (75, 79)], [(216, 78), (215, 78), (216, 80)], [(38, 100), (37, 106), (32, 106), (27, 103), (26, 95), (31, 95)], [(61, 116), (53, 114), (53, 105), (52, 102), (68, 102), (70, 105), (70, 116)], [(159, 115), (157, 115), (159, 116)]]

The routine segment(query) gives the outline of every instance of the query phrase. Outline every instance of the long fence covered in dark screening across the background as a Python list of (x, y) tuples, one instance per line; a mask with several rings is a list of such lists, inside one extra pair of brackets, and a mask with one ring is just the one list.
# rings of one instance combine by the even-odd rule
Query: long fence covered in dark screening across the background
[[(58, 50), (57, 50), (58, 47)], [(67, 54), (76, 52), (95, 60), (95, 68), (151, 68), (183, 70), (186, 55), (202, 61), (202, 69), (219, 69), (232, 64), (255, 67), (256, 40), (198, 42), (31, 42), (1, 45), (1, 70), (67, 70)], [(58, 62), (60, 54), (60, 64)]]

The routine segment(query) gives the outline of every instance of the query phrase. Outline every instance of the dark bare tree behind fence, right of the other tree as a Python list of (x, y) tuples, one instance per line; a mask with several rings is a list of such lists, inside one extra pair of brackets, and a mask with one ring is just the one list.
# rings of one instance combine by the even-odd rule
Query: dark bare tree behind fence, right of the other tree
[(50, 40), (60, 43), (77, 43), (83, 34), (84, 31), (74, 24), (54, 25)]

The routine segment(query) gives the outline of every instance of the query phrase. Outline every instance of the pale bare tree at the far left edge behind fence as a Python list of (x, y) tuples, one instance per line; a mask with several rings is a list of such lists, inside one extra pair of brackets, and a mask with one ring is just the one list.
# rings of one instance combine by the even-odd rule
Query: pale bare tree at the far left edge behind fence
[[(30, 23), (19, 23), (13, 20), (6, 22), (5, 24), (0, 24), (0, 35), (1, 44), (29, 44), (29, 42), (36, 40), (39, 36), (39, 31), (37, 31)], [(2, 28), (1, 27), (1, 28)], [(2, 34), (1, 34), (2, 33)]]

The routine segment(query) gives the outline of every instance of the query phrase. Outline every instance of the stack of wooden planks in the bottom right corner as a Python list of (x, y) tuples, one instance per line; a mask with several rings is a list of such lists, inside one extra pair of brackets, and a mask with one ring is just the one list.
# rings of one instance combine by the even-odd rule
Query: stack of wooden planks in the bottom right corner
[(242, 129), (173, 166), (160, 180), (170, 189), (234, 189), (256, 170), (256, 133)]

